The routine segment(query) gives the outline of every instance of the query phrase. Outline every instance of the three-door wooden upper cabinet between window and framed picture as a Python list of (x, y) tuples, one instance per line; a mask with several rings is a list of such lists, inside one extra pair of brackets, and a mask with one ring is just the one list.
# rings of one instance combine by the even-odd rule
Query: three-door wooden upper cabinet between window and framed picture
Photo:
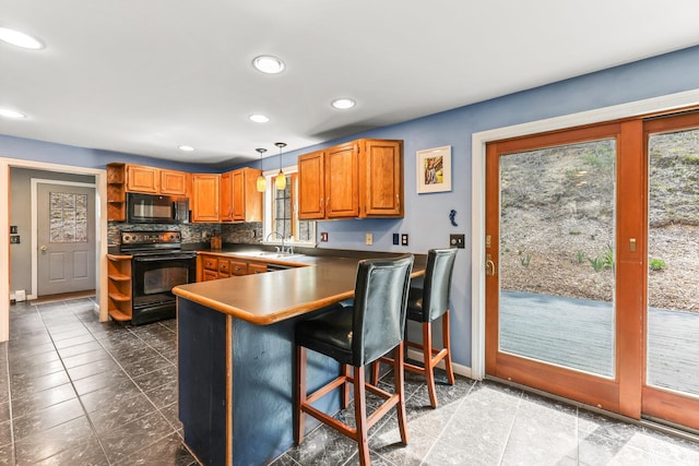
[(403, 217), (403, 142), (357, 140), (298, 158), (301, 219)]

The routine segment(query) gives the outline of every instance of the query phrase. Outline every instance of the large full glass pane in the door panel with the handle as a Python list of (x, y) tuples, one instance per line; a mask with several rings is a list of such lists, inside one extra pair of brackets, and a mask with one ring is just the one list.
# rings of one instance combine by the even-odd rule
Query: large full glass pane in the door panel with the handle
[(500, 351), (615, 374), (613, 139), (500, 157)]

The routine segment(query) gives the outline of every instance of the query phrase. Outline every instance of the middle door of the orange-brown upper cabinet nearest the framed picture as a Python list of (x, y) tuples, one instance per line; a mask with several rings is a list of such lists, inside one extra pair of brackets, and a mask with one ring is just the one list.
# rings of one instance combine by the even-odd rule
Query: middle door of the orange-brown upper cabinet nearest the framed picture
[(325, 150), (325, 216), (328, 218), (359, 215), (358, 184), (357, 143), (351, 142)]

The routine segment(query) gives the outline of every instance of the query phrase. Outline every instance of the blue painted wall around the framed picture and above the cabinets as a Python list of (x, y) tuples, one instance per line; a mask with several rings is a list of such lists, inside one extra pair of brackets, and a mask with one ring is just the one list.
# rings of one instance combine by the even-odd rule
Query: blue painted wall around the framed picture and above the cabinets
[[(513, 79), (517, 79), (516, 76)], [(452, 288), (452, 345), (457, 363), (471, 366), (471, 136), (474, 132), (536, 121), (584, 110), (624, 104), (682, 91), (699, 88), (699, 47), (603, 70), (493, 100), (404, 123), (329, 141), (283, 156), (283, 165), (295, 165), (298, 155), (357, 138), (401, 139), (405, 150), (405, 217), (400, 220), (321, 222), (327, 231), (324, 248), (424, 253), (443, 247), (452, 232), (466, 234), (466, 249), (459, 252)], [(450, 145), (452, 147), (451, 192), (417, 194), (415, 152)], [(104, 167), (110, 160), (164, 166), (163, 160), (134, 160), (123, 154), (57, 146), (36, 141), (0, 136), (0, 156), (32, 158), (62, 164)], [(56, 158), (58, 157), (58, 158)], [(105, 158), (107, 158), (105, 160)], [(279, 159), (264, 159), (263, 168), (279, 166)], [(201, 167), (199, 170), (205, 170)], [(448, 214), (457, 210), (459, 227)], [(366, 232), (374, 234), (374, 246), (364, 244)], [(410, 246), (392, 244), (392, 234), (410, 235)]]

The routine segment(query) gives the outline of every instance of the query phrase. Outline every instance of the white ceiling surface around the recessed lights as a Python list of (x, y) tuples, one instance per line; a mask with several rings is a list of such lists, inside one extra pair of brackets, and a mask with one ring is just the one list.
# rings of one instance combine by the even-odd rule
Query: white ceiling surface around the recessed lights
[(0, 0), (0, 26), (46, 44), (0, 43), (0, 108), (28, 117), (0, 133), (236, 165), (694, 46), (698, 19), (697, 0)]

